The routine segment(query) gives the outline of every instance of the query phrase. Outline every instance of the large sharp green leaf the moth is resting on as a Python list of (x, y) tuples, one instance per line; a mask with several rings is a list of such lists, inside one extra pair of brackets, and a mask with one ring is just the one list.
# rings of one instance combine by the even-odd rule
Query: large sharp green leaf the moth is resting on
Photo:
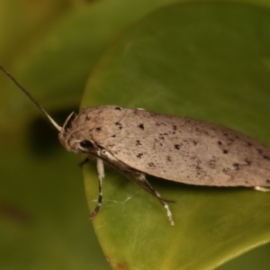
[[(90, 76), (82, 107), (118, 104), (223, 124), (270, 145), (270, 14), (245, 4), (174, 4), (116, 40)], [(85, 166), (90, 210), (97, 198)], [(270, 238), (270, 197), (148, 177), (170, 203), (107, 170), (94, 228), (113, 269), (213, 269)]]

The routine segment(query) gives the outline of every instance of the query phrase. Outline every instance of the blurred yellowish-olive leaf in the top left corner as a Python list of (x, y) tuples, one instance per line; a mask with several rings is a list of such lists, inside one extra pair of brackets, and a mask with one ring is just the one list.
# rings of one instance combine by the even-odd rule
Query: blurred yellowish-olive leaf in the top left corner
[(61, 15), (74, 7), (72, 0), (40, 0), (39, 2), (2, 0), (0, 3), (0, 58), (10, 66), (32, 41)]

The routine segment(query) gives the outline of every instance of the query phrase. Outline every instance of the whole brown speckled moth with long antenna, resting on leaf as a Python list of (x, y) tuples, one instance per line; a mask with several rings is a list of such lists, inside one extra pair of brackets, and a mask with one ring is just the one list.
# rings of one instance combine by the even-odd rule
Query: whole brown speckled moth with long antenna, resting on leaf
[[(185, 184), (247, 186), (269, 192), (270, 148), (228, 128), (188, 118), (115, 105), (85, 109), (63, 127), (49, 116), (22, 85), (0, 68), (31, 99), (59, 131), (61, 144), (70, 152), (96, 158), (99, 197), (103, 199), (103, 162), (154, 195), (172, 213), (165, 200), (148, 183), (146, 175)], [(81, 163), (88, 161), (88, 158)]]

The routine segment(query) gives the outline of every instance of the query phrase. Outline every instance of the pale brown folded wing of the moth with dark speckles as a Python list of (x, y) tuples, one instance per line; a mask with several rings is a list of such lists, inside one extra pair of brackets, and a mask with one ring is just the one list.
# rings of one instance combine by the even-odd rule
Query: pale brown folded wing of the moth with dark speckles
[(140, 110), (128, 110), (120, 123), (105, 147), (148, 175), (197, 185), (270, 183), (269, 148), (236, 131)]

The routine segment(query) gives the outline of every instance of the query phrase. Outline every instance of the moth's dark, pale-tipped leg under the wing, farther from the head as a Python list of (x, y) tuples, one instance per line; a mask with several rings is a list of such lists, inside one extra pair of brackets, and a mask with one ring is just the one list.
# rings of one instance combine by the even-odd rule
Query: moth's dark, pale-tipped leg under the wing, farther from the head
[(175, 225), (175, 221), (173, 220), (173, 214), (170, 211), (169, 206), (167, 205), (167, 203), (165, 202), (165, 200), (163, 200), (160, 196), (159, 193), (157, 193), (157, 191), (153, 188), (153, 186), (148, 182), (148, 180), (146, 179), (145, 175), (143, 174), (139, 174), (137, 176), (137, 178), (132, 178), (132, 180), (139, 184), (142, 188), (144, 188), (148, 193), (152, 194), (153, 196), (155, 196), (157, 198), (157, 200), (163, 205), (163, 207), (166, 210), (166, 215), (168, 217), (168, 220), (170, 221), (171, 225), (174, 226)]

